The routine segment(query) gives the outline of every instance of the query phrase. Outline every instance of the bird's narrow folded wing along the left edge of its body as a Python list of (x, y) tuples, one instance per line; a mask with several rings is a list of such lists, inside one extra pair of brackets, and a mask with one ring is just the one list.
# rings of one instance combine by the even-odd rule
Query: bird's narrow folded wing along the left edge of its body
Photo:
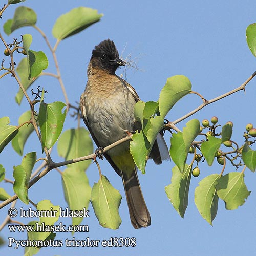
[[(81, 115), (82, 115), (82, 119), (84, 121), (84, 123), (87, 126), (87, 129), (89, 130), (95, 144), (97, 147), (101, 147), (100, 143), (98, 142), (98, 140), (96, 139), (96, 137), (94, 136), (94, 133), (92, 131), (92, 129), (90, 128), (88, 119), (87, 119), (87, 115), (86, 115), (86, 110), (84, 108), (84, 100), (85, 100), (85, 95), (84, 93), (81, 95), (80, 97), (80, 111), (81, 111)], [(119, 168), (115, 165), (115, 163), (112, 161), (111, 157), (107, 154), (107, 153), (103, 153), (103, 156), (106, 158), (106, 160), (108, 160), (108, 162), (110, 163), (110, 165), (112, 166), (112, 168), (116, 171), (116, 173), (121, 176), (121, 172), (119, 170)]]

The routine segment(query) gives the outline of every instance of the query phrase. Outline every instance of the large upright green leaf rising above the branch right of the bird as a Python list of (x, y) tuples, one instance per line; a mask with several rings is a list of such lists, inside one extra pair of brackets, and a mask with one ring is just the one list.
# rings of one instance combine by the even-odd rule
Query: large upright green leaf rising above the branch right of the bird
[(175, 103), (191, 92), (191, 82), (186, 76), (176, 75), (167, 78), (159, 95), (159, 111), (164, 118)]

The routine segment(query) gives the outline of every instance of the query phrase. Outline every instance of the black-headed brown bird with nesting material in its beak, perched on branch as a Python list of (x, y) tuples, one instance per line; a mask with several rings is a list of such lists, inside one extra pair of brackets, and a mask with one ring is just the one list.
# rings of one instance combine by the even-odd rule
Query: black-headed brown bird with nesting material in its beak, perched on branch
[[(134, 106), (140, 101), (135, 89), (115, 74), (125, 62), (119, 58), (114, 42), (103, 40), (92, 51), (87, 68), (88, 81), (80, 97), (81, 116), (98, 148), (106, 147), (127, 133), (141, 130), (135, 121)], [(130, 219), (135, 229), (151, 225), (151, 216), (146, 206), (137, 175), (137, 167), (129, 150), (129, 141), (103, 152), (103, 156), (121, 176), (129, 208)], [(150, 158), (156, 164), (169, 159), (163, 136), (159, 133)]]

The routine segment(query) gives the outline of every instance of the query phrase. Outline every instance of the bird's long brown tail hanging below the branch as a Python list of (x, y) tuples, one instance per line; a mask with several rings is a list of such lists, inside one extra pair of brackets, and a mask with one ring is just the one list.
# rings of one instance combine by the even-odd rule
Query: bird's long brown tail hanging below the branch
[(121, 175), (132, 225), (136, 229), (150, 226), (150, 212), (148, 212), (142, 195), (136, 168), (132, 175), (122, 171)]

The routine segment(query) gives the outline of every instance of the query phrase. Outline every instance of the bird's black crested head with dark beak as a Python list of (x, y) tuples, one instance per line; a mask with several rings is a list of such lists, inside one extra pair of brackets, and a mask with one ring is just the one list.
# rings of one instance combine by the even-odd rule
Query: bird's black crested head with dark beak
[(113, 41), (106, 39), (92, 51), (91, 63), (93, 68), (99, 68), (114, 74), (118, 66), (124, 65)]

